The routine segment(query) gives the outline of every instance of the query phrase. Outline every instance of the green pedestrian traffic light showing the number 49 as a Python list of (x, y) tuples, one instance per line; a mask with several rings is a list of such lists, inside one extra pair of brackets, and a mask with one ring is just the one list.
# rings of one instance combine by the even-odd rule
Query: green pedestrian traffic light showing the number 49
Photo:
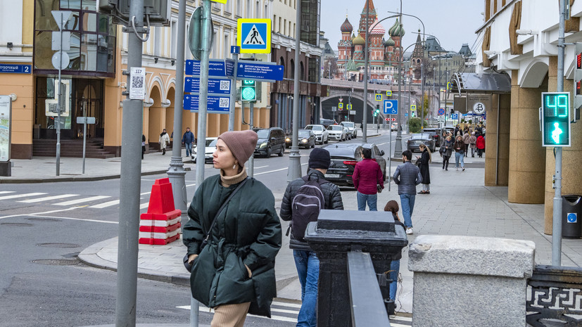
[(570, 94), (542, 92), (542, 146), (570, 146)]

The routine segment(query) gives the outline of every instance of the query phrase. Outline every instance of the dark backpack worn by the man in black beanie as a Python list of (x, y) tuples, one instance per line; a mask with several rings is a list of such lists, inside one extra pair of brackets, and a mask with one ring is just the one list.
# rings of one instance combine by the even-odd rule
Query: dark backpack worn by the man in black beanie
[(325, 179), (317, 178), (312, 181), (309, 176), (302, 177), (305, 184), (293, 197), (291, 202), (291, 233), (293, 238), (304, 242), (305, 229), (310, 222), (317, 222), (320, 211), (325, 207), (325, 198), (322, 191), (322, 184), (327, 183)]

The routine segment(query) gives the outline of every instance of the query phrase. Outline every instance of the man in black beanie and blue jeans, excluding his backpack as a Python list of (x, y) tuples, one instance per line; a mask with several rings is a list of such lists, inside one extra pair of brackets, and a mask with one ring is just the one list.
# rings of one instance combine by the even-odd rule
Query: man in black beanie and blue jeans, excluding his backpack
[[(324, 179), (324, 174), (329, 168), (331, 158), (329, 152), (322, 148), (315, 148), (309, 155), (308, 178), (310, 180)], [(291, 181), (287, 186), (283, 202), (281, 203), (281, 219), (289, 222), (293, 215), (293, 198), (297, 195), (299, 188), (305, 184), (303, 178)], [(343, 210), (343, 201), (339, 187), (331, 184), (329, 181), (320, 183), (324, 196), (324, 209)], [(300, 241), (302, 236), (293, 236), (289, 241), (289, 248), (293, 249), (295, 257), (295, 266), (301, 282), (301, 309), (297, 316), (298, 327), (315, 327), (317, 326), (316, 309), (317, 309), (317, 281), (320, 276), (320, 259), (311, 250), (308, 243)]]

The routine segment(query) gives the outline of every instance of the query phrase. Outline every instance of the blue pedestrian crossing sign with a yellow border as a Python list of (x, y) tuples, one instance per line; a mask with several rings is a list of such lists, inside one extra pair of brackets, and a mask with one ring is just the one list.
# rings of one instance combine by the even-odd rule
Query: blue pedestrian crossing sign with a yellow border
[(241, 53), (271, 53), (270, 19), (241, 18), (236, 34)]

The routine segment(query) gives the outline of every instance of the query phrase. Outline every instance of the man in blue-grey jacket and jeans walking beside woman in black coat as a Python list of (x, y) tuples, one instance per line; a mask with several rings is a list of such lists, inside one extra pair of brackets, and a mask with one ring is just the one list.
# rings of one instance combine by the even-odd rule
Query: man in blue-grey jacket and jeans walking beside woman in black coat
[(402, 165), (396, 167), (396, 172), (392, 179), (398, 185), (398, 195), (400, 195), (400, 205), (404, 216), (404, 226), (406, 233), (412, 234), (412, 211), (415, 209), (415, 198), (417, 195), (417, 185), (422, 183), (420, 169), (413, 165), (412, 152), (405, 150), (402, 153)]

